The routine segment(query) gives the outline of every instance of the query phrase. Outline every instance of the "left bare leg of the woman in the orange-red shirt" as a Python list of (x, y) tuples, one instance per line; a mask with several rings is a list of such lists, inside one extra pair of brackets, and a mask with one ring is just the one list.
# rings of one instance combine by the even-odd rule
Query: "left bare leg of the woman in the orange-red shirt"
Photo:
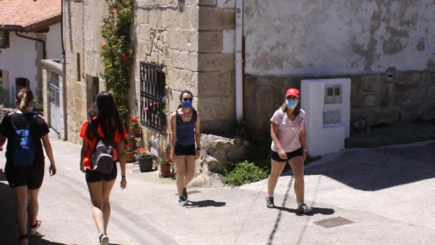
[(89, 189), (90, 201), (92, 202), (92, 216), (97, 226), (98, 234), (104, 233), (104, 216), (103, 216), (103, 184), (100, 182), (87, 182)]

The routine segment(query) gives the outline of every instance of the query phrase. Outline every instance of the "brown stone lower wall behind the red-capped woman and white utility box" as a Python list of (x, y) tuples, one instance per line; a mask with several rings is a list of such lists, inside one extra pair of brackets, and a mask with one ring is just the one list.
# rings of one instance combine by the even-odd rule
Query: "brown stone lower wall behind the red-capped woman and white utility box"
[(270, 118), (284, 102), (288, 88), (299, 89), (304, 79), (350, 78), (350, 122), (365, 118), (370, 125), (375, 125), (434, 119), (435, 72), (395, 71), (393, 76), (392, 81), (387, 81), (385, 73), (284, 78), (248, 75), (246, 118), (256, 128), (268, 130)]

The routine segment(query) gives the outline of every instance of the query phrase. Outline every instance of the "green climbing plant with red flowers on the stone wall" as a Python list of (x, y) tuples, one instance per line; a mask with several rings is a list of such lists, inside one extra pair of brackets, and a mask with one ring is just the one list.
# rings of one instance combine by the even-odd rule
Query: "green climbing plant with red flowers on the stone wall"
[(133, 48), (131, 47), (131, 23), (133, 0), (113, 0), (109, 15), (103, 18), (101, 36), (105, 43), (101, 47), (104, 71), (101, 76), (107, 83), (109, 93), (118, 104), (121, 117), (129, 117), (128, 93), (130, 89)]

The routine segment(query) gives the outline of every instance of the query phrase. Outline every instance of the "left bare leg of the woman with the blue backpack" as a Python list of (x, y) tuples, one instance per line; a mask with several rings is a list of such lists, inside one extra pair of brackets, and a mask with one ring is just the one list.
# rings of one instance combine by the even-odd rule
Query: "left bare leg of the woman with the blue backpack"
[(15, 218), (20, 235), (27, 234), (27, 186), (12, 188), (15, 197)]

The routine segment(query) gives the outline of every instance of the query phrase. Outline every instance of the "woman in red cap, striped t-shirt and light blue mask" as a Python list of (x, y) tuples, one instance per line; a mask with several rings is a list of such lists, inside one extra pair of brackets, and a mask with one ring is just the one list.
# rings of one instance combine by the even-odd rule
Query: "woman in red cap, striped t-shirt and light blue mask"
[(290, 88), (286, 93), (285, 103), (273, 113), (270, 119), (270, 136), (272, 146), (270, 150), (271, 171), (267, 181), (266, 203), (268, 208), (275, 207), (273, 192), (278, 177), (288, 160), (295, 178), (295, 194), (298, 211), (308, 213), (312, 210), (304, 203), (304, 161), (306, 158), (307, 121), (305, 112), (301, 109), (299, 90)]

